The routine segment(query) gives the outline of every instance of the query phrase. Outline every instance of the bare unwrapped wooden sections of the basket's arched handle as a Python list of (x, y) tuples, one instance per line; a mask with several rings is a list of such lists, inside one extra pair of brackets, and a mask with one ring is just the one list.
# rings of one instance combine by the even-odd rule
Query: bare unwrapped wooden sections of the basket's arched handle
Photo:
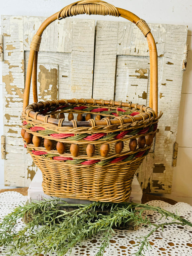
[[(84, 2), (84, 4), (83, 4)], [(82, 4), (83, 6), (86, 6), (90, 2), (90, 4), (94, 4), (93, 1), (79, 1), (75, 4)], [(95, 4), (97, 4), (99, 1), (95, 1)], [(119, 14), (121, 17), (136, 23), (140, 20), (139, 17), (137, 17), (135, 14), (121, 9), (117, 8), (119, 11)], [(43, 31), (47, 26), (49, 26), (53, 21), (57, 20), (58, 15), (60, 12), (50, 16), (47, 18), (39, 27), (36, 35), (42, 36)], [(156, 117), (158, 116), (158, 73), (157, 73), (157, 48), (156, 43), (153, 38), (153, 35), (151, 32), (149, 32), (147, 35), (147, 41), (149, 45), (149, 55), (150, 55), (150, 99), (149, 99), (149, 106), (155, 111)], [(26, 82), (25, 82), (25, 91), (24, 91), (24, 105), (23, 105), (23, 111), (25, 110), (26, 106), (29, 104), (29, 93), (30, 93), (30, 83), (31, 83), (31, 77), (33, 77), (33, 99), (34, 102), (38, 101), (37, 98), (37, 57), (38, 57), (38, 51), (35, 51), (33, 49), (30, 50), (29, 54), (29, 61), (28, 61), (28, 67), (27, 67), (27, 73), (26, 73)], [(33, 73), (33, 75), (32, 75)], [(29, 113), (29, 116), (31, 116), (32, 113)], [(31, 116), (32, 117), (32, 116)]]

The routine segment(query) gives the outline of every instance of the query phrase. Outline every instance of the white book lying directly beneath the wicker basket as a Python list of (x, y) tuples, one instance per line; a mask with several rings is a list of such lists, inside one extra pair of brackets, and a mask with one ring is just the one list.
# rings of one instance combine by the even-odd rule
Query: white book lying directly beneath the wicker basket
[[(41, 201), (44, 198), (47, 198), (47, 199), (53, 198), (52, 196), (44, 194), (43, 188), (41, 185), (42, 181), (43, 181), (42, 173), (38, 169), (28, 188), (28, 200)], [(141, 186), (136, 176), (134, 176), (132, 185), (131, 185), (131, 194), (128, 202), (141, 203), (142, 195), (143, 193), (142, 193)], [(80, 199), (71, 199), (71, 198), (59, 198), (59, 199), (64, 200), (69, 204), (88, 204), (92, 202), (89, 200), (80, 200)]]

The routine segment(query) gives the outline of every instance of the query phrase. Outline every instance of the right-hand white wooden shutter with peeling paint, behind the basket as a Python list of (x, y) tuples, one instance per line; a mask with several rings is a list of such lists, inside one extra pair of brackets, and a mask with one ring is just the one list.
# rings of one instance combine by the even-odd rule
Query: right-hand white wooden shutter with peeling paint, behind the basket
[[(187, 27), (149, 24), (158, 51), (159, 112), (155, 149), (137, 170), (143, 191), (170, 193)], [(146, 38), (129, 22), (98, 21), (93, 98), (149, 105), (150, 60)]]

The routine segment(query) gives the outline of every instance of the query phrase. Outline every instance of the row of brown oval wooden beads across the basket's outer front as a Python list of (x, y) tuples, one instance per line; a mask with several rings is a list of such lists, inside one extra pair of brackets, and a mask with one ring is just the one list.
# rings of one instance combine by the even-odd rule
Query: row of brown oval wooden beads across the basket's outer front
[[(42, 138), (40, 136), (32, 135), (31, 133), (26, 132), (24, 129), (22, 129), (22, 137), (27, 143), (33, 142), (33, 145), (35, 147), (39, 147), (41, 145)], [(144, 148), (145, 144), (150, 146), (153, 142), (153, 135), (147, 135), (142, 136), (137, 139), (130, 139), (129, 141), (129, 149), (130, 151), (135, 151), (137, 148), (137, 145), (139, 148)], [(46, 150), (50, 151), (53, 149), (54, 144), (53, 140), (50, 139), (44, 139), (44, 147)], [(115, 152), (116, 154), (120, 154), (123, 150), (124, 143), (123, 141), (118, 141), (115, 144)], [(66, 150), (65, 143), (63, 142), (57, 142), (56, 149), (59, 154), (64, 154)], [(109, 154), (110, 146), (108, 143), (102, 144), (100, 147), (100, 153), (101, 156), (106, 157)], [(71, 144), (70, 152), (73, 157), (77, 157), (79, 154), (79, 145), (78, 144)], [(94, 144), (88, 144), (86, 148), (87, 156), (92, 157), (95, 153), (95, 145)]]

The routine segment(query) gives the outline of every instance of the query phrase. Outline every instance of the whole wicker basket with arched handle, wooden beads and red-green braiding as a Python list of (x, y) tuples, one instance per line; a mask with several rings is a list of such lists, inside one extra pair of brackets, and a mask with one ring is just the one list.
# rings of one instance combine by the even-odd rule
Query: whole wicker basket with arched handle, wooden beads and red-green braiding
[[(57, 18), (84, 13), (124, 17), (147, 37), (150, 107), (103, 99), (54, 99), (37, 103), (37, 55), (44, 29)], [(106, 2), (79, 1), (45, 20), (30, 49), (22, 136), (27, 151), (42, 171), (44, 192), (64, 198), (127, 201), (134, 173), (153, 144), (161, 117), (157, 101), (157, 50), (150, 28), (134, 14)], [(28, 105), (32, 72), (35, 103)], [(67, 116), (69, 121), (65, 120)]]

